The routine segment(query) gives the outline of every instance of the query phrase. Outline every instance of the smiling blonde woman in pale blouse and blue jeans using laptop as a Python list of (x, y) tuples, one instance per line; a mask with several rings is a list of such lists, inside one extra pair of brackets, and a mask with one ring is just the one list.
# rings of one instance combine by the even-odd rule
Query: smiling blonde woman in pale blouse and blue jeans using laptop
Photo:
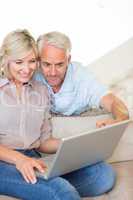
[[(37, 48), (27, 30), (9, 33), (0, 51), (0, 194), (28, 200), (78, 200), (63, 178), (37, 178), (46, 166), (37, 151), (56, 152), (51, 136), (49, 97), (44, 85), (31, 80)], [(36, 183), (36, 184), (35, 184)]]

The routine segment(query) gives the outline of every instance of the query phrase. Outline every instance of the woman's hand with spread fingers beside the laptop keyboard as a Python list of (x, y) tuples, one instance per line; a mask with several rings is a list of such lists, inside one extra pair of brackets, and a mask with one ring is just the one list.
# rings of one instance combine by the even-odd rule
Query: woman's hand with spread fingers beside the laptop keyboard
[(16, 168), (20, 171), (27, 183), (35, 184), (37, 182), (35, 169), (44, 173), (47, 167), (40, 159), (23, 156), (16, 161)]

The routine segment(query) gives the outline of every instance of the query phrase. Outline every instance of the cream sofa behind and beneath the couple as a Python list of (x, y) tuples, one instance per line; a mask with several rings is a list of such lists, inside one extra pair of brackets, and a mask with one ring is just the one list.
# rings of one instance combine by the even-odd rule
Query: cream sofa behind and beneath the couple
[[(105, 56), (97, 59), (87, 67), (95, 74), (109, 90), (120, 97), (127, 105), (130, 118), (133, 118), (133, 39), (126, 41)], [(98, 115), (98, 116), (97, 116)], [(53, 117), (53, 133), (60, 137), (73, 134), (70, 131), (70, 121), (73, 124), (82, 124), (82, 131), (95, 127), (99, 118), (110, 117), (101, 111), (92, 111), (90, 116), (83, 117)], [(69, 121), (70, 120), (70, 121)], [(77, 123), (79, 120), (79, 123)], [(92, 121), (93, 123), (88, 123)], [(68, 123), (68, 124), (67, 124)], [(62, 125), (66, 126), (62, 129)], [(90, 125), (91, 124), (91, 127)], [(92, 126), (93, 125), (93, 126)], [(89, 126), (89, 127), (88, 127)], [(72, 129), (71, 129), (72, 130)], [(84, 200), (132, 200), (133, 199), (133, 122), (125, 130), (112, 157), (107, 161), (116, 169), (117, 183), (113, 190), (105, 195)], [(0, 196), (0, 200), (15, 200), (15, 198)]]

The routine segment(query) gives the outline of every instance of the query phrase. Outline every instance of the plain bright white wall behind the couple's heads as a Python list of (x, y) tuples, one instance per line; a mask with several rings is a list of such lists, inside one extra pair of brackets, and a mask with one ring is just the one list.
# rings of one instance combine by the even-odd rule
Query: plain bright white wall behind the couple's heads
[(132, 0), (1, 0), (0, 8), (0, 42), (16, 28), (35, 37), (59, 30), (73, 42), (73, 60), (84, 64), (133, 35)]

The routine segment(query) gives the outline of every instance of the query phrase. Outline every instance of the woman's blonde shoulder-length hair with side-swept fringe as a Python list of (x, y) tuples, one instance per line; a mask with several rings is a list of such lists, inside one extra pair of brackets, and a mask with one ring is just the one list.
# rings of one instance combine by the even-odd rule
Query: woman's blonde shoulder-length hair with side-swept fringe
[(2, 77), (11, 78), (8, 69), (8, 60), (10, 58), (23, 58), (30, 50), (33, 50), (36, 57), (38, 57), (36, 42), (26, 29), (18, 29), (10, 32), (4, 38), (0, 48), (0, 75)]

